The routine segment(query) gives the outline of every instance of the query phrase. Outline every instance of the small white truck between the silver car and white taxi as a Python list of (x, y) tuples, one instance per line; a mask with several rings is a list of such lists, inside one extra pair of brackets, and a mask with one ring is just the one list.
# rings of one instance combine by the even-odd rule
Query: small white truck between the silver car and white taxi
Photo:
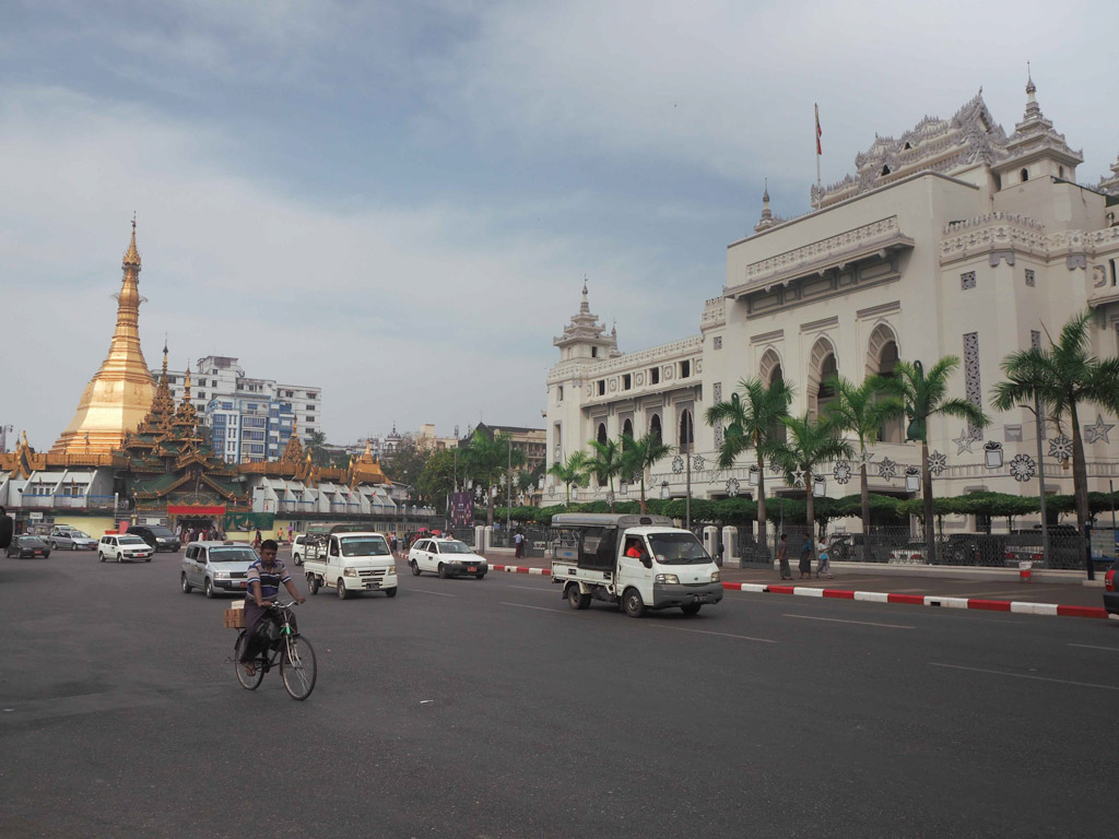
[(396, 559), (384, 534), (333, 528), (303, 547), (303, 573), (311, 594), (327, 586), (339, 600), (360, 592), (396, 596)]

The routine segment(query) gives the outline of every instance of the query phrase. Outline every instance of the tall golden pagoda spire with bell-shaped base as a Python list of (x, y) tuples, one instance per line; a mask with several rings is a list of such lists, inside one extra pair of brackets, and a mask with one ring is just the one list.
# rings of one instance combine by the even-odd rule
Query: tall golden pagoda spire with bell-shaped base
[(143, 422), (156, 395), (156, 381), (140, 348), (140, 253), (137, 223), (124, 262), (116, 300), (116, 329), (109, 355), (82, 392), (77, 413), (50, 450), (51, 454), (110, 453)]

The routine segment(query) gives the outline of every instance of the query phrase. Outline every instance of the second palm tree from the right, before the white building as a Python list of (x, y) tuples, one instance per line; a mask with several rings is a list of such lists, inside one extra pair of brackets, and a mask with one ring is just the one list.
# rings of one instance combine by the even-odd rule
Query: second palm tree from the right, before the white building
[(937, 555), (937, 538), (932, 529), (932, 475), (929, 472), (929, 418), (937, 414), (956, 416), (968, 424), (982, 428), (990, 420), (982, 408), (967, 399), (948, 399), (948, 379), (960, 366), (956, 356), (944, 356), (929, 370), (920, 361), (899, 361), (894, 367), (894, 378), (886, 379), (886, 389), (905, 406), (910, 425), (906, 440), (921, 441), (921, 491), (924, 494), (924, 544), (928, 560)]

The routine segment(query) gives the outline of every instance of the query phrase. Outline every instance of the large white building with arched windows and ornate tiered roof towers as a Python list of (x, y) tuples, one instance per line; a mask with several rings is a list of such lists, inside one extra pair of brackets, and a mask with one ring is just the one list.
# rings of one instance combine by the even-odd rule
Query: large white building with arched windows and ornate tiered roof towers
[[(1010, 135), (976, 96), (950, 120), (927, 117), (896, 140), (877, 138), (857, 155), (856, 175), (812, 188), (814, 209), (799, 218), (774, 217), (767, 194), (754, 233), (727, 249), (725, 284), (704, 303), (698, 334), (621, 353), (591, 313), (584, 285), (580, 313), (554, 341), (561, 360), (547, 377), (548, 464), (595, 437), (659, 428), (666, 442), (690, 442), (693, 497), (749, 494), (752, 459), (716, 470), (722, 430), (703, 421), (740, 379), (783, 377), (796, 387), (792, 413), (816, 415), (830, 398), (822, 380), (831, 373), (858, 383), (888, 375), (899, 358), (928, 366), (953, 355), (961, 365), (950, 395), (981, 403), (993, 424), (980, 432), (933, 418), (937, 494), (1036, 494), (1033, 414), (996, 413), (989, 399), (1005, 356), (1038, 345), (1085, 308), (1096, 312), (1094, 351), (1119, 355), (1119, 162), (1111, 178), (1079, 185), (1083, 157), (1034, 93), (1029, 82)], [(1119, 478), (1119, 418), (1085, 409), (1081, 422), (1090, 489), (1107, 490)], [(1042, 436), (1046, 491), (1071, 493), (1065, 437), (1052, 424)], [(920, 450), (903, 440), (902, 423), (884, 428), (873, 449), (873, 492), (905, 494), (905, 468), (919, 465)], [(985, 447), (994, 444), (1003, 465), (989, 469)], [(683, 463), (670, 458), (655, 470), (653, 497), (662, 482), (673, 497), (685, 493)], [(826, 473), (822, 489), (857, 492), (848, 474)], [(777, 473), (767, 474), (767, 488), (805, 491)], [(564, 494), (549, 487), (545, 503), (548, 492)], [(593, 486), (587, 492), (605, 497)]]

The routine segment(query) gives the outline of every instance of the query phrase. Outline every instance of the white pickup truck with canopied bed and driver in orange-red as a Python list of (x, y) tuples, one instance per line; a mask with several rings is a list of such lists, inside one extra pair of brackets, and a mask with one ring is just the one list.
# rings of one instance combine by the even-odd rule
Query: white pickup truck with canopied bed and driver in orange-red
[(572, 609), (618, 603), (630, 618), (679, 606), (686, 615), (723, 600), (718, 566), (689, 530), (666, 516), (561, 513), (552, 582)]

